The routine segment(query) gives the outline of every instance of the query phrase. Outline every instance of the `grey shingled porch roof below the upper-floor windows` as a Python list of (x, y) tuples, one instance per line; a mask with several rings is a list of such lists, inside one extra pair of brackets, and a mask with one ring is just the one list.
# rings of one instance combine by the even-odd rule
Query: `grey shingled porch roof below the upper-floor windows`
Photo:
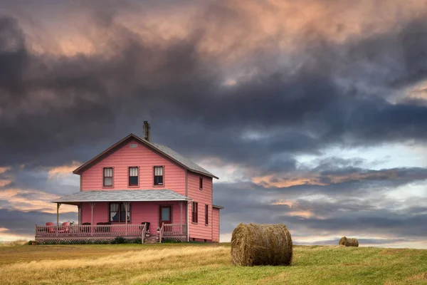
[(96, 190), (80, 191), (51, 202), (78, 204), (79, 202), (139, 202), (139, 201), (191, 201), (189, 197), (172, 190)]

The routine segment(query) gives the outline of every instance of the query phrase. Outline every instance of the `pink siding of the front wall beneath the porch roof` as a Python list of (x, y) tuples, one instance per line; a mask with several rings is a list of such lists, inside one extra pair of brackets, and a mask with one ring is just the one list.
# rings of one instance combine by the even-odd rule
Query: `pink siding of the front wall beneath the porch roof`
[[(109, 222), (108, 220), (108, 202), (97, 202), (93, 207), (93, 224), (98, 222)], [(179, 202), (130, 202), (130, 219), (128, 224), (141, 224), (149, 222), (149, 230), (155, 234), (159, 226), (159, 206), (172, 206), (172, 223), (178, 224), (181, 217), (181, 208)], [(185, 224), (185, 204), (182, 202), (182, 220), (181, 224)], [(91, 222), (90, 204), (83, 203), (82, 223)], [(124, 222), (112, 224), (125, 224)]]

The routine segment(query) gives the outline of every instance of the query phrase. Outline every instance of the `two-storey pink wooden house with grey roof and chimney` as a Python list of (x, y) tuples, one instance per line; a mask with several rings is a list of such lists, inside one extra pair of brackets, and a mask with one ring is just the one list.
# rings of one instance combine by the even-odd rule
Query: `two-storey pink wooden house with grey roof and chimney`
[[(80, 192), (60, 197), (56, 224), (36, 225), (36, 240), (142, 237), (219, 242), (211, 172), (164, 145), (130, 134), (73, 171)], [(78, 207), (78, 224), (59, 224), (60, 204)]]

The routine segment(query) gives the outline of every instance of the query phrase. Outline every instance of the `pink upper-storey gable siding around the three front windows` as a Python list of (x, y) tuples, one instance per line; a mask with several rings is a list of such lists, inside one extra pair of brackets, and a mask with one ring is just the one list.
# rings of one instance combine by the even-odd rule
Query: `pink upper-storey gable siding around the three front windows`
[[(136, 143), (138, 147), (131, 148)], [(164, 166), (164, 183), (154, 186), (153, 167)], [(129, 186), (128, 169), (139, 167), (139, 186)], [(113, 187), (102, 187), (102, 170), (113, 167)], [(210, 178), (211, 179), (211, 178)], [(81, 190), (132, 190), (132, 189), (170, 189), (185, 195), (185, 170), (165, 157), (149, 150), (141, 143), (131, 140), (111, 155), (85, 170), (81, 175)]]

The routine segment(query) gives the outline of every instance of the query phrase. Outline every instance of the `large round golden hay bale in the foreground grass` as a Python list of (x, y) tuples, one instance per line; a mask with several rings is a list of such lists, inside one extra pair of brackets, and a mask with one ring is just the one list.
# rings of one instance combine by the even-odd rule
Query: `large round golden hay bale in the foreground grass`
[(289, 265), (292, 237), (284, 224), (239, 224), (231, 236), (234, 265)]

